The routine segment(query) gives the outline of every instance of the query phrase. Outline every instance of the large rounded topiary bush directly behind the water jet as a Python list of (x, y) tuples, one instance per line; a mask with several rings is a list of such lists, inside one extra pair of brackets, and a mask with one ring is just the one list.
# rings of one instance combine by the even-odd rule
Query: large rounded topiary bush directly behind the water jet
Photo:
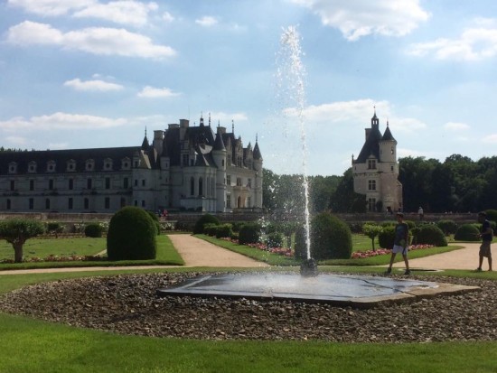
[[(302, 237), (301, 237), (302, 236)], [(329, 212), (311, 220), (311, 256), (316, 260), (349, 259), (352, 256), (352, 233), (349, 225)], [(295, 256), (306, 257), (305, 233), (295, 237)]]

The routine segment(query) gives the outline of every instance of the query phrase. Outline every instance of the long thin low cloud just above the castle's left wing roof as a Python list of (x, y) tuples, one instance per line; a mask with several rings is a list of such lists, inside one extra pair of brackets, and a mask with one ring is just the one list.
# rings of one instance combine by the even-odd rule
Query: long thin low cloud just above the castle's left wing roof
[(89, 130), (127, 125), (125, 118), (96, 117), (84, 114), (54, 113), (40, 117), (14, 117), (0, 122), (5, 131)]

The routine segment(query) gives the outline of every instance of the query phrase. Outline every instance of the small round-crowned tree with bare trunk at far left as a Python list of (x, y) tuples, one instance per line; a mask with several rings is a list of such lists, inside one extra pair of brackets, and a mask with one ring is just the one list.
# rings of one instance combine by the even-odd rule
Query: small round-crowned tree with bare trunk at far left
[(23, 246), (26, 240), (44, 233), (40, 221), (30, 219), (7, 219), (0, 222), (0, 237), (14, 247), (14, 262), (23, 261)]

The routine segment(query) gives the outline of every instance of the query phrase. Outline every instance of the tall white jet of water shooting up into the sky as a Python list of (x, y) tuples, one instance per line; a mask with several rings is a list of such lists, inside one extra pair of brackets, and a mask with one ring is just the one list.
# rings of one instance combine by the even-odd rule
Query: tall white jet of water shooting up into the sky
[[(277, 55), (277, 90), (285, 92), (290, 108), (284, 114), (296, 117), (300, 127), (300, 144), (302, 146), (302, 173), (305, 198), (305, 246), (307, 259), (311, 258), (309, 183), (307, 178), (307, 144), (305, 140), (305, 67), (302, 63), (301, 37), (295, 26), (283, 30), (280, 39), (280, 51)], [(288, 135), (288, 134), (286, 134)]]

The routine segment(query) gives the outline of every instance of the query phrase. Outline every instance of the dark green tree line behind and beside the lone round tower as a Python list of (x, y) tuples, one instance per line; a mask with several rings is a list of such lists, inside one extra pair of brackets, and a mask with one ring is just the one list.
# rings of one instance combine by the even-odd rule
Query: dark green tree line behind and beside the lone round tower
[[(264, 169), (263, 206), (270, 212), (298, 215), (304, 210), (303, 175), (278, 175)], [(353, 191), (352, 168), (342, 176), (310, 176), (309, 208), (313, 213), (365, 212), (364, 195)], [(405, 211), (476, 212), (497, 208), (497, 156), (478, 161), (453, 154), (440, 162), (426, 157), (399, 159)]]

